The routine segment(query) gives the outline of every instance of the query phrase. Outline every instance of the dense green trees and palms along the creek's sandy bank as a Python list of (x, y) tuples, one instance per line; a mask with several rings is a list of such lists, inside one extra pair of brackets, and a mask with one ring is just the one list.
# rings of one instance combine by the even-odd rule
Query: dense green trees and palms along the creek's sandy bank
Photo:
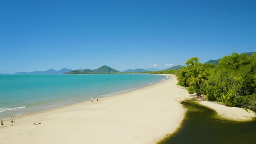
[[(248, 56), (232, 53), (224, 56), (218, 65), (200, 63), (197, 57), (187, 61), (177, 74), (178, 85), (191, 87), (209, 101), (256, 111), (256, 53)], [(190, 92), (193, 88), (188, 88)]]

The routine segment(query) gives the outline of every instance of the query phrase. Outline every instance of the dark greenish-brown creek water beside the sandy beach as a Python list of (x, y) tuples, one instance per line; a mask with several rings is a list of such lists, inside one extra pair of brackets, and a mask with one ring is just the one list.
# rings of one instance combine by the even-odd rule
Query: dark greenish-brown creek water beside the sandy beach
[(255, 144), (256, 120), (230, 121), (193, 100), (181, 103), (187, 114), (174, 134), (157, 144)]

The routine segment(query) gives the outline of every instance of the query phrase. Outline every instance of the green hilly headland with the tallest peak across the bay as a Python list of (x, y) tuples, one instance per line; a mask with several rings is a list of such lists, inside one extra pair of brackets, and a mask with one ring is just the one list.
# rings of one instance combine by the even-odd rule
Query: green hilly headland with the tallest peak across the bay
[(67, 72), (66, 74), (88, 74), (88, 73), (118, 73), (118, 70), (112, 69), (111, 67), (107, 65), (103, 65), (102, 67), (98, 69), (84, 69), (84, 70), (73, 70), (70, 72)]

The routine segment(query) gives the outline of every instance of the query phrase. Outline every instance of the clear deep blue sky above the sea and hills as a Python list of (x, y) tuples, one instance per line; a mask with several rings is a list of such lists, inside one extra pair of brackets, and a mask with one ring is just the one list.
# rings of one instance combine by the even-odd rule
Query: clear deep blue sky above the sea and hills
[(0, 1), (1, 73), (164, 69), (252, 51), (256, 0)]

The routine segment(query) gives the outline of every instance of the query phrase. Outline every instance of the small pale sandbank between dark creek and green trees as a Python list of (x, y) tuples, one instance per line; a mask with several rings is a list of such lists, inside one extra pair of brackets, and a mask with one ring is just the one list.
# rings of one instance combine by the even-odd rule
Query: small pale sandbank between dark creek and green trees
[(256, 117), (253, 111), (246, 111), (243, 108), (227, 107), (212, 101), (200, 101), (199, 103), (214, 109), (221, 117), (235, 121), (247, 121)]

